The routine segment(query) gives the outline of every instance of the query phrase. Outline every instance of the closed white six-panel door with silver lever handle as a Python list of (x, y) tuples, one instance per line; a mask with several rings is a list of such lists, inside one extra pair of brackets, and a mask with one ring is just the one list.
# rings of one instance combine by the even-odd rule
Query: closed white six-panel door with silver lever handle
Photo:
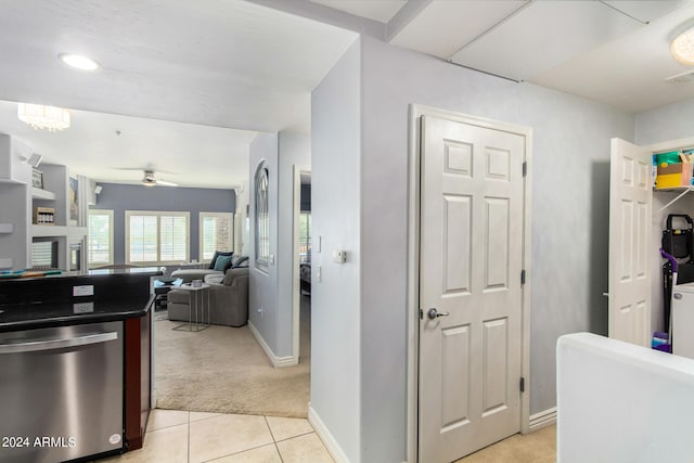
[(520, 429), (524, 158), (519, 134), (422, 117), (420, 462)]

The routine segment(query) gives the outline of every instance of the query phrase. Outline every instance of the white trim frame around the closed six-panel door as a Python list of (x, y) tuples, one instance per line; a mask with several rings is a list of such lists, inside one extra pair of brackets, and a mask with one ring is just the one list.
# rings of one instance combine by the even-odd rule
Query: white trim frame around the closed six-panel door
[(528, 169), (524, 187), (524, 240), (523, 240), (523, 268), (526, 280), (523, 292), (522, 309), (522, 364), (520, 371), (525, 378), (525, 393), (520, 397), (520, 433), (530, 430), (530, 287), (531, 287), (531, 149), (532, 130), (529, 127), (507, 124), (503, 121), (471, 116), (430, 106), (411, 104), (409, 108), (409, 146), (408, 146), (408, 285), (407, 285), (407, 321), (408, 321), (408, 410), (407, 410), (407, 461), (416, 462), (419, 454), (419, 344), (420, 344), (420, 319), (419, 319), (419, 286), (420, 286), (420, 160), (421, 160), (421, 125), (422, 116), (434, 116), (444, 119), (454, 120), (462, 124), (475, 125), (494, 130), (517, 133), (525, 138), (525, 160)]

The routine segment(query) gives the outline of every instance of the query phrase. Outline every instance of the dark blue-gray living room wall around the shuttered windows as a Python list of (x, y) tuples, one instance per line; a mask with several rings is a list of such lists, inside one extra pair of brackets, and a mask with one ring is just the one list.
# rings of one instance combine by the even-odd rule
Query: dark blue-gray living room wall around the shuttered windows
[(233, 213), (233, 190), (143, 187), (119, 183), (99, 183), (103, 187), (91, 209), (114, 211), (114, 262), (124, 263), (126, 256), (126, 210), (190, 211), (190, 258), (200, 260), (198, 213)]

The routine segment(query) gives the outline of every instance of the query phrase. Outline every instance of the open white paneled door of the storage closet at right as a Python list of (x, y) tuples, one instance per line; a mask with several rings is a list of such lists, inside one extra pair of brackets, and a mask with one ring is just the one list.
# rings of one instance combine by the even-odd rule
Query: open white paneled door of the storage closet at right
[(608, 332), (644, 347), (651, 336), (652, 156), (646, 147), (612, 140)]

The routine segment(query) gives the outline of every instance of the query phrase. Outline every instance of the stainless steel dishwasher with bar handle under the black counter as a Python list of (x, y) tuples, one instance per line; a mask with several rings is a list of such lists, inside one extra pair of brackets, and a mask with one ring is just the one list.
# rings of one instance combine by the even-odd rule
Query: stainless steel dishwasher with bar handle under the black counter
[(123, 449), (121, 321), (0, 333), (0, 462)]

